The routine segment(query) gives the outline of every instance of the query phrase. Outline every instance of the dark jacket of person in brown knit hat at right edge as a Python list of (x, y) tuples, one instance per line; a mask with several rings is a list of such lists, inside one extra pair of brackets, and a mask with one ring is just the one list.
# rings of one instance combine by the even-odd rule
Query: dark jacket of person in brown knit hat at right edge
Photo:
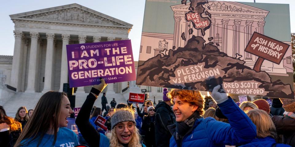
[(277, 134), (283, 134), (282, 143), (295, 147), (295, 119), (278, 115), (271, 119), (276, 126)]

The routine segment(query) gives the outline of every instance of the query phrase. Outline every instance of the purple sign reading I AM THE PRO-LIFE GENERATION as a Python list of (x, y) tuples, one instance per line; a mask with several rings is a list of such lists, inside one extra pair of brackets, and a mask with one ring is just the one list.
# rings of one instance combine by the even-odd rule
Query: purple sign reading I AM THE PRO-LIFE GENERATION
[(131, 40), (67, 45), (70, 88), (136, 80)]

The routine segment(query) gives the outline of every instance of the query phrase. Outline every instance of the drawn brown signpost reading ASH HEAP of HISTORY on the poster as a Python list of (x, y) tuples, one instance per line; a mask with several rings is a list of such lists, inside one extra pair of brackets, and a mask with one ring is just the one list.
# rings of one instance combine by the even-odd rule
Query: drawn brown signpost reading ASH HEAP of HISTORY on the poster
[(280, 64), (290, 45), (254, 32), (245, 51), (258, 56), (253, 70), (259, 72), (264, 60)]

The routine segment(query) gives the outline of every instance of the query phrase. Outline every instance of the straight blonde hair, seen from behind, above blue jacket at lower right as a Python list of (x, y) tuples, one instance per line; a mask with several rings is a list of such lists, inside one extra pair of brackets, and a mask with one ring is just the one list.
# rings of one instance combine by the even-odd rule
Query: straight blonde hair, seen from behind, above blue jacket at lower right
[(276, 127), (274, 126), (270, 116), (264, 110), (252, 109), (246, 111), (246, 114), (255, 124), (258, 138), (265, 138), (270, 136), (276, 139)]

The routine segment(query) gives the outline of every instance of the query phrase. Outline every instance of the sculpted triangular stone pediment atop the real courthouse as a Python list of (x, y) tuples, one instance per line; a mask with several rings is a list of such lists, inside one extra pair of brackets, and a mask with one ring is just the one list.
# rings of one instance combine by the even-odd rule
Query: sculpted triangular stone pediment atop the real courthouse
[(78, 4), (10, 15), (11, 20), (45, 21), (132, 28), (132, 25)]

